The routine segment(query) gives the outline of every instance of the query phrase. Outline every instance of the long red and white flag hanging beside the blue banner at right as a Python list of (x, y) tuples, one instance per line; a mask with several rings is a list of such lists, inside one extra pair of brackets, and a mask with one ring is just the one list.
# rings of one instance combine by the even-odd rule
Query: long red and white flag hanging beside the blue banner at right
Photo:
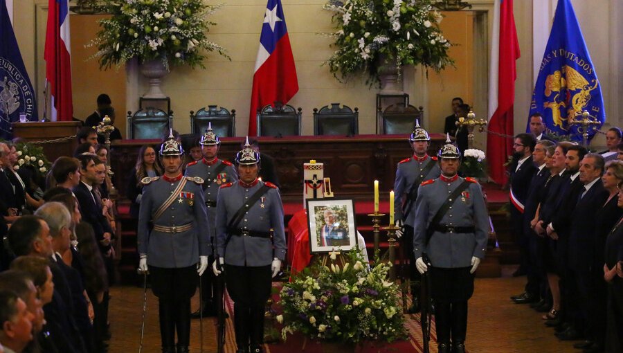
[(513, 135), (515, 61), (519, 55), (513, 0), (496, 0), (489, 62), (489, 131), (493, 134), (487, 135), (487, 159), (491, 179), (500, 184), (507, 180), (503, 164), (513, 154), (513, 141), (497, 134)]

